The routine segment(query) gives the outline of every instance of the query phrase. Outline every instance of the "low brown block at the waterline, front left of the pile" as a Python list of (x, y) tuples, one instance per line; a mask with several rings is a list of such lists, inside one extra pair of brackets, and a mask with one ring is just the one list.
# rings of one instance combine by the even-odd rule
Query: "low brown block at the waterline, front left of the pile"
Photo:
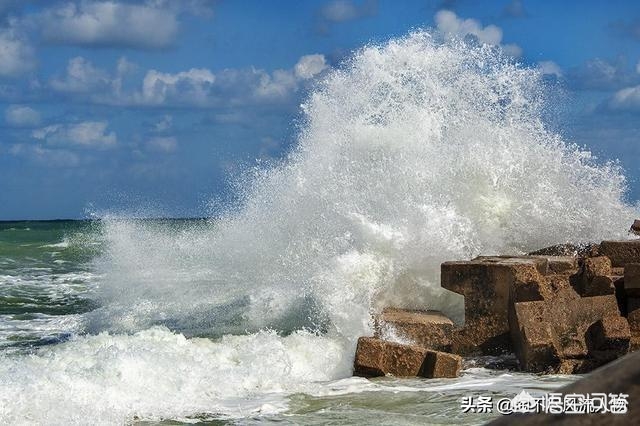
[(433, 351), (417, 345), (388, 342), (376, 337), (358, 339), (354, 375), (376, 377), (457, 377), (462, 369), (458, 355)]

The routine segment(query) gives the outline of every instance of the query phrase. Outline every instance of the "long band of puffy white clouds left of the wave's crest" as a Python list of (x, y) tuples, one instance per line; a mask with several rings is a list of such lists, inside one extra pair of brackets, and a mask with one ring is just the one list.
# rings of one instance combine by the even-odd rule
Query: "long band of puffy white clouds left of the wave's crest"
[[(123, 62), (124, 61), (124, 62)], [(291, 69), (273, 72), (256, 68), (213, 73), (192, 68), (177, 73), (148, 70), (141, 82), (124, 87), (134, 65), (121, 59), (116, 71), (99, 69), (82, 57), (72, 59), (66, 74), (50, 80), (55, 91), (108, 105), (241, 107), (282, 103), (328, 68), (323, 55), (302, 56)]]

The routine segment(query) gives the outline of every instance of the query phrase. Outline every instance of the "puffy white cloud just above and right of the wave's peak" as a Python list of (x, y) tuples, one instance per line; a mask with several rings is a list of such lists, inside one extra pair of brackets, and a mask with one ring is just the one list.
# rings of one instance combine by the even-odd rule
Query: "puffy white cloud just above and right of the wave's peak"
[[(485, 27), (475, 19), (461, 19), (454, 12), (441, 10), (435, 15), (436, 28), (445, 39), (464, 38), (467, 35), (475, 36), (480, 43), (500, 45), (502, 42), (502, 29), (496, 25)], [(507, 55), (518, 57), (522, 55), (522, 49), (516, 44), (502, 46)]]

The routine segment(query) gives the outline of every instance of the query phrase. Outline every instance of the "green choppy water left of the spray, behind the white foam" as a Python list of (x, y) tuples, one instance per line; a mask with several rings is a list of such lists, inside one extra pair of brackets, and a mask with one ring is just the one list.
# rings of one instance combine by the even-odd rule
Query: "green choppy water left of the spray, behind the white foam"
[(99, 233), (88, 221), (0, 222), (0, 348), (62, 342), (96, 307), (91, 260)]

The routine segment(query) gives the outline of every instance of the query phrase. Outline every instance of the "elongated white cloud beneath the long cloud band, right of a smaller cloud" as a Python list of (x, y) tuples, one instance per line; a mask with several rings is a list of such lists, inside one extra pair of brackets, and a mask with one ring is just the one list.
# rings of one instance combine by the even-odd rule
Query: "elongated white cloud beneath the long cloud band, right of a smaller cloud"
[(107, 126), (105, 121), (54, 124), (34, 130), (32, 136), (52, 145), (110, 148), (118, 143), (118, 139), (114, 132), (107, 132)]

